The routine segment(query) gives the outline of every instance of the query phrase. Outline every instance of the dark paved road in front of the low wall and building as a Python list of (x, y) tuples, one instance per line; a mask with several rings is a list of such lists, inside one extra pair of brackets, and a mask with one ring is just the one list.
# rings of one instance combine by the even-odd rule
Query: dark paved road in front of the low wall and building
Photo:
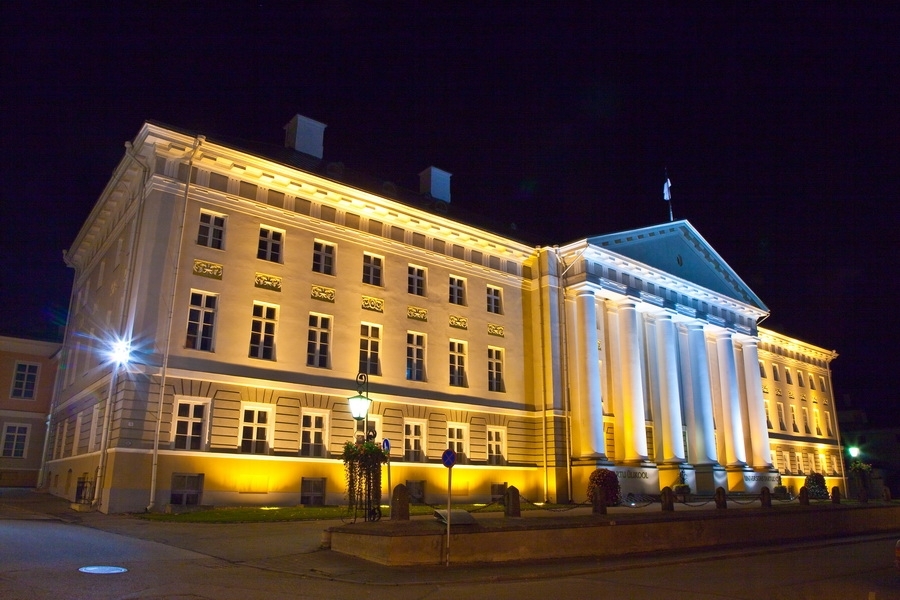
[[(319, 550), (330, 524), (151, 523), (0, 490), (0, 598), (900, 600), (893, 537), (728, 555), (386, 568)], [(128, 571), (78, 571), (86, 565)]]

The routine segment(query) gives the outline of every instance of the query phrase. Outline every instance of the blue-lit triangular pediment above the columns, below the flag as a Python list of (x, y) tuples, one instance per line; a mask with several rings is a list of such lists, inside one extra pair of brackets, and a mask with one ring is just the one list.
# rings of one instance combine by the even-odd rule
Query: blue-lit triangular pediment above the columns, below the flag
[(686, 220), (589, 237), (587, 242), (738, 302), (769, 310)]

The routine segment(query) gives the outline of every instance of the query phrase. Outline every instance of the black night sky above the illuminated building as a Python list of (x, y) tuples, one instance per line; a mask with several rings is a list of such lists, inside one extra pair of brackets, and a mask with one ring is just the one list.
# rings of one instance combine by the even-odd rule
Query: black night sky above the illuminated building
[(668, 171), (764, 326), (837, 350), (839, 406), (900, 421), (900, 9), (282, 4), (0, 3), (0, 333), (64, 323), (62, 250), (144, 120), (281, 144), (301, 113), (326, 160), (414, 189), (435, 165), (454, 208), (544, 244), (668, 221)]

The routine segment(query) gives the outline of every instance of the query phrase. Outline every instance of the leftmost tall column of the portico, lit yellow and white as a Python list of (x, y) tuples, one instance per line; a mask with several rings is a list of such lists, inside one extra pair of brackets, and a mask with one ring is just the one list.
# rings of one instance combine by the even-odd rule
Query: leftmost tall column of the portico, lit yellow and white
[(594, 293), (581, 291), (575, 297), (577, 325), (575, 364), (578, 372), (579, 415), (576, 423), (579, 456), (606, 458), (603, 435), (603, 403), (600, 388), (600, 354), (597, 351), (597, 305)]

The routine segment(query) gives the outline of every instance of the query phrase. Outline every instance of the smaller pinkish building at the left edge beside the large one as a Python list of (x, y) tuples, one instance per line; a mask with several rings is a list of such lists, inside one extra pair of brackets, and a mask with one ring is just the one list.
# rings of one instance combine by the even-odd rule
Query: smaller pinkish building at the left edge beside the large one
[(60, 344), (0, 336), (0, 487), (35, 487)]

